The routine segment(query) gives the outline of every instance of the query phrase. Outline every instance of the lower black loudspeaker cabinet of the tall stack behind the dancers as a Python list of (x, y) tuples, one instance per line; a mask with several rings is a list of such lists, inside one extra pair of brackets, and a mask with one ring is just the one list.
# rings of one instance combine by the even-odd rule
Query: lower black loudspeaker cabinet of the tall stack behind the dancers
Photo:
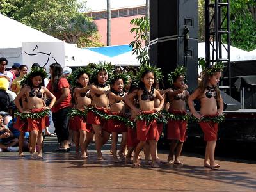
[[(188, 42), (186, 57), (184, 57), (184, 38), (178, 37), (166, 42), (159, 42), (150, 45), (150, 62), (156, 63), (164, 74), (164, 82), (167, 80), (167, 75), (172, 70), (175, 70), (177, 65), (183, 65), (187, 68), (186, 84), (188, 90), (195, 90), (198, 82), (197, 72), (197, 49), (198, 40), (191, 39)], [(179, 63), (179, 64), (178, 64)]]

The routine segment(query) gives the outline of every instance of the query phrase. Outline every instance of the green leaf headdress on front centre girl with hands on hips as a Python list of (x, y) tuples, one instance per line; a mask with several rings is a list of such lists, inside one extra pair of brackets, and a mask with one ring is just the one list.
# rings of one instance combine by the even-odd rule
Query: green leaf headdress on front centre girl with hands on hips
[(138, 72), (137, 72), (137, 75), (135, 77), (137, 83), (140, 82), (140, 80), (142, 78), (142, 74), (145, 71), (152, 72), (154, 74), (155, 78), (156, 78), (155, 81), (157, 81), (157, 82), (161, 81), (161, 79), (163, 78), (161, 68), (156, 68), (155, 66), (150, 65), (150, 63), (145, 63), (143, 65), (140, 65), (140, 67), (138, 68)]

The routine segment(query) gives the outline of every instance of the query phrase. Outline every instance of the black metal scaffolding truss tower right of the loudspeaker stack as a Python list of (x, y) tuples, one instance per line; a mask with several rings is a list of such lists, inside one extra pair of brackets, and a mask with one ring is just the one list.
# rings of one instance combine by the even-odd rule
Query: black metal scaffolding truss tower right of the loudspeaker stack
[[(226, 88), (231, 95), (229, 5), (229, 0), (205, 0), (205, 61), (206, 66), (219, 61), (227, 63), (227, 74), (223, 76), (228, 77)], [(227, 51), (226, 58), (223, 51)]]

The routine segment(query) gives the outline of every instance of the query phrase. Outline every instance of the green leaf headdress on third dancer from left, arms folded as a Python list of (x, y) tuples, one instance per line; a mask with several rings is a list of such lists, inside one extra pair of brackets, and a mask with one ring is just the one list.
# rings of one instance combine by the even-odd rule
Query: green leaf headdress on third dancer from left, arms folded
[(115, 70), (115, 66), (111, 65), (111, 63), (106, 62), (100, 62), (98, 65), (94, 65), (92, 67), (92, 82), (97, 82), (97, 75), (102, 70), (106, 70), (106, 72), (108, 73), (108, 78), (110, 78)]

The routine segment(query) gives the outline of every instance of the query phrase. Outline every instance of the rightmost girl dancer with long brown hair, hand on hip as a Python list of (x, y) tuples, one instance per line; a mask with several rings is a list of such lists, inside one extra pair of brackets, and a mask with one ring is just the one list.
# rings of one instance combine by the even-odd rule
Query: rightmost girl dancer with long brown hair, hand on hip
[[(220, 165), (214, 159), (216, 147), (218, 122), (223, 120), (223, 100), (218, 88), (222, 63), (210, 65), (206, 68), (200, 85), (189, 97), (188, 105), (191, 113), (199, 120), (200, 127), (204, 132), (206, 143), (204, 166), (212, 169), (219, 168)], [(194, 108), (193, 100), (200, 99), (200, 113)]]

